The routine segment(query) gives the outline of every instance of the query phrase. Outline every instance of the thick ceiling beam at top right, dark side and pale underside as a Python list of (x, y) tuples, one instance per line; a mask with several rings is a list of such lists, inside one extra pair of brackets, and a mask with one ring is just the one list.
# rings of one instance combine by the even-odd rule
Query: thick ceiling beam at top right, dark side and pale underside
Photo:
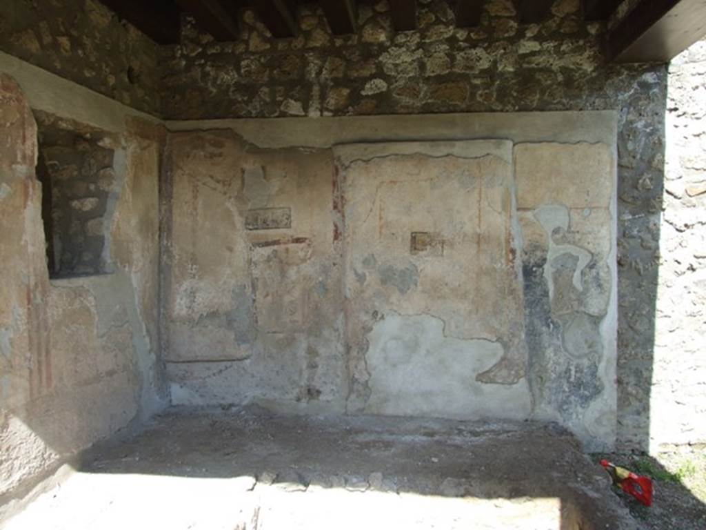
[(670, 61), (706, 32), (704, 0), (642, 0), (606, 40), (611, 61)]

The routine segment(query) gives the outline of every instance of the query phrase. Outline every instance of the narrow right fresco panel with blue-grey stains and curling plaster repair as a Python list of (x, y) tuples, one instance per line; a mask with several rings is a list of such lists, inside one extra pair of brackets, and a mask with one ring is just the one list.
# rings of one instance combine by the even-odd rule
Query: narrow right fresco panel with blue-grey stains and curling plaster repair
[(587, 449), (616, 436), (616, 161), (604, 143), (515, 146), (534, 416)]

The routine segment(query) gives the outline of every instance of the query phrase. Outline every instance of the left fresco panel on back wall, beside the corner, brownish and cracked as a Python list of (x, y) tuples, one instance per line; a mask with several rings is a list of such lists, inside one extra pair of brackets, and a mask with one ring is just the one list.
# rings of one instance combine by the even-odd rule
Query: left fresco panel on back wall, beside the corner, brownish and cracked
[(175, 134), (164, 356), (175, 404), (342, 410), (340, 213), (330, 151)]

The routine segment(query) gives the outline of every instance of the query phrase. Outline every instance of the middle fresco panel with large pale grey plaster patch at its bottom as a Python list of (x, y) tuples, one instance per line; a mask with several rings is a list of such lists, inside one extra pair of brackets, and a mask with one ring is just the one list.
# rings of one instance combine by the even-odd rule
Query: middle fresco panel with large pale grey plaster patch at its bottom
[(349, 411), (524, 418), (512, 143), (335, 148)]

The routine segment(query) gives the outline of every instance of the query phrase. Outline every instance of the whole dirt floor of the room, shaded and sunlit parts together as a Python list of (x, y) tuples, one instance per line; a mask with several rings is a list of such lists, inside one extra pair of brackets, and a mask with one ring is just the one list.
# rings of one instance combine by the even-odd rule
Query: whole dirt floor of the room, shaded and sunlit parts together
[(172, 409), (92, 449), (6, 526), (331, 527), (638, 528), (558, 428), (259, 409)]

